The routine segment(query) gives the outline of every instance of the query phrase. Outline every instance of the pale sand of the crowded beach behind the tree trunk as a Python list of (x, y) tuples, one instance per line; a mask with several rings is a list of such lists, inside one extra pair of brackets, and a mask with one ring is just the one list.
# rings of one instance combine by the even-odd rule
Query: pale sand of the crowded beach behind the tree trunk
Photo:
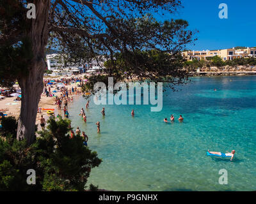
[[(74, 78), (84, 78), (84, 74), (83, 75), (73, 75), (72, 77), (74, 77)], [(45, 77), (44, 80), (47, 80), (47, 79), (60, 80), (61, 78), (65, 78), (65, 77), (58, 77), (58, 78), (47, 78), (47, 77)], [(47, 89), (48, 89), (48, 87), (49, 87), (49, 85), (47, 85)], [(55, 86), (52, 85), (52, 87), (51, 87), (52, 91), (55, 89), (54, 87)], [(70, 85), (65, 85), (65, 87), (67, 89), (71, 89), (72, 87), (77, 87), (77, 89), (81, 91), (81, 87), (78, 87), (76, 85), (76, 82), (73, 82)], [(20, 89), (18, 85), (15, 85), (15, 88)], [(55, 96), (60, 96), (61, 93), (62, 92), (54, 92), (54, 95)], [(71, 95), (71, 96), (73, 96), (74, 100), (76, 100), (76, 98), (81, 96), (81, 94), (80, 95), (75, 94), (75, 95)], [(1, 98), (0, 99), (0, 112), (3, 112), (4, 114), (7, 114), (7, 116), (13, 116), (16, 119), (18, 119), (19, 115), (20, 115), (21, 101), (16, 101), (15, 99), (16, 99), (16, 97)], [(70, 103), (72, 103), (72, 102), (70, 102)], [(51, 109), (54, 109), (54, 114), (55, 115), (58, 115), (58, 114), (63, 115), (63, 111), (62, 111), (63, 106), (61, 106), (61, 110), (59, 110), (57, 108), (57, 105), (55, 104), (55, 97), (47, 97), (45, 92), (43, 92), (41, 94), (41, 98), (40, 98), (38, 107), (40, 107), (40, 108), (51, 108)], [(37, 113), (37, 115), (36, 115), (36, 124), (38, 124), (38, 130), (41, 129), (40, 120), (39, 120), (41, 115), (44, 115), (45, 120), (47, 120), (50, 116), (49, 114), (46, 113), (46, 110), (42, 110), (41, 113)]]

